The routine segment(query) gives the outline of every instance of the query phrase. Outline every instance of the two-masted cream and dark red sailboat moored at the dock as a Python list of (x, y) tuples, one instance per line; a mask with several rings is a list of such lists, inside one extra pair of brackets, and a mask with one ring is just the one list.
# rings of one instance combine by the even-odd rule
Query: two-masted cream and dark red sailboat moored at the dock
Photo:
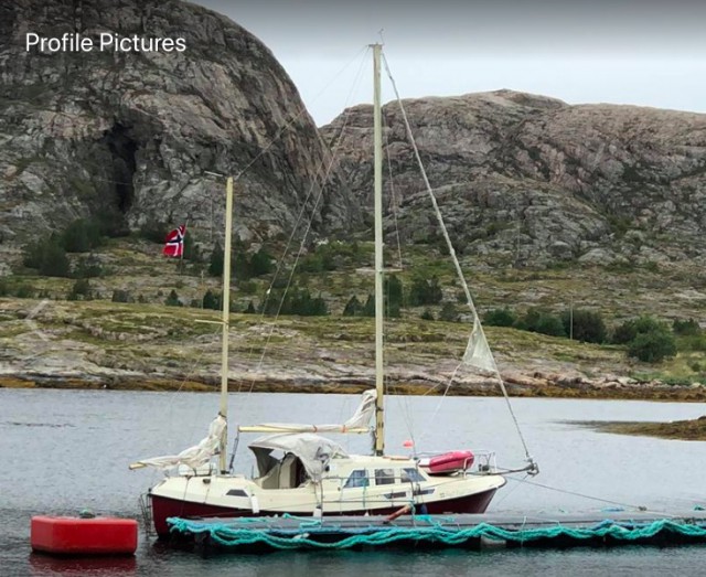
[[(218, 416), (208, 436), (179, 455), (137, 461), (142, 467), (178, 468), (148, 493), (154, 528), (169, 533), (168, 519), (235, 517), (259, 515), (395, 514), (414, 506), (435, 513), (482, 513), (505, 478), (491, 458), (474, 462), (470, 451), (450, 451), (430, 458), (385, 453), (383, 412), (383, 203), (381, 50), (374, 56), (375, 141), (375, 389), (364, 393), (355, 414), (340, 425), (265, 424), (239, 427), (239, 432), (261, 432), (249, 444), (257, 476), (235, 474), (226, 466), (228, 393), (228, 298), (223, 299), (222, 375)], [(226, 184), (224, 295), (229, 295), (233, 179)], [(470, 299), (470, 293), (469, 293)], [(474, 312), (474, 309), (473, 309)], [(486, 359), (486, 343), (475, 314), (467, 356)], [(479, 336), (485, 349), (479, 349)], [(490, 353), (490, 350), (486, 351)], [(482, 363), (481, 363), (482, 365)], [(494, 366), (494, 361), (493, 361)], [(370, 426), (373, 420), (374, 427)], [(374, 437), (373, 455), (349, 455), (321, 434), (366, 434)], [(218, 466), (210, 461), (218, 456)], [(276, 457), (281, 455), (280, 457)], [(531, 463), (528, 469), (532, 469)]]

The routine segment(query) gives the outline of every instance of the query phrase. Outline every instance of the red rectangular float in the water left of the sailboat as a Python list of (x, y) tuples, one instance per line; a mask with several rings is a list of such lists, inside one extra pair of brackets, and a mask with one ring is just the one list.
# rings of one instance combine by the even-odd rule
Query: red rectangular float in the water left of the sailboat
[(133, 555), (137, 521), (33, 516), (32, 551), (54, 555)]

